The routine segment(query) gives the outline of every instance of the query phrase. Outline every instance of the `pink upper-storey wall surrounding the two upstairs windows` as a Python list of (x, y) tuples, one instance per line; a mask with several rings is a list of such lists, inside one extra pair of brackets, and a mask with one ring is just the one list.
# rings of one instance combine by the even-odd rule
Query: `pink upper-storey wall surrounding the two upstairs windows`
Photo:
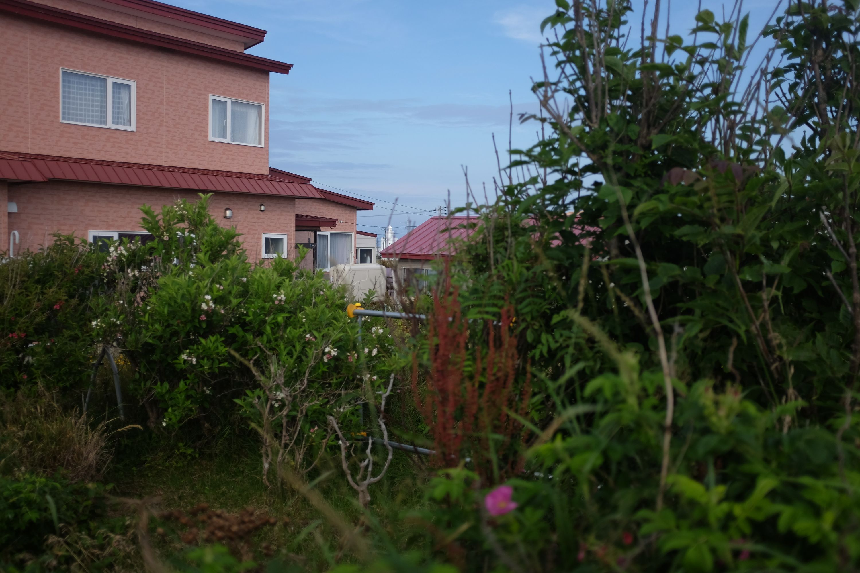
[[(209, 141), (209, 95), (266, 104), (268, 72), (0, 17), (0, 150), (268, 173), (264, 147)], [(60, 68), (137, 82), (136, 131), (60, 123)]]

